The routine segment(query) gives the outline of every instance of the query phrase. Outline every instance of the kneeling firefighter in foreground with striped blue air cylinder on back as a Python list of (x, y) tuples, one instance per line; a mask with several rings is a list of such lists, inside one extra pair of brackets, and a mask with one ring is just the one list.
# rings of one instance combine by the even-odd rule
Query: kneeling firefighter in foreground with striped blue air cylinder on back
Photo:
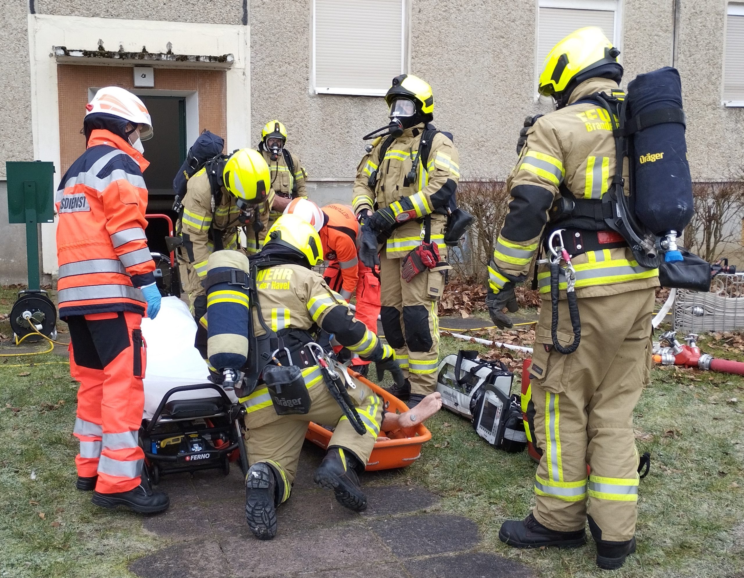
[(312, 271), (322, 259), (318, 233), (294, 215), (277, 219), (250, 270), (237, 251), (209, 258), (209, 361), (225, 376), (223, 387), (245, 371), (236, 386), (247, 410), (246, 518), (259, 539), (276, 535), (276, 507), (289, 498), (310, 421), (335, 428), (315, 483), (333, 489), (344, 507), (367, 507), (358, 475), (379, 434), (382, 399), (313, 334), (333, 333), (373, 361), (394, 363), (394, 353)]

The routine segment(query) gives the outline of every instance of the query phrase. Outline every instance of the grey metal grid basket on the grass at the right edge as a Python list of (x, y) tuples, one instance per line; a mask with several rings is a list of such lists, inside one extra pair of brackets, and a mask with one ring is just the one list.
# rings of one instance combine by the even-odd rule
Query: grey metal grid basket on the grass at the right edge
[(744, 329), (744, 274), (719, 274), (711, 291), (677, 289), (674, 329), (682, 333)]

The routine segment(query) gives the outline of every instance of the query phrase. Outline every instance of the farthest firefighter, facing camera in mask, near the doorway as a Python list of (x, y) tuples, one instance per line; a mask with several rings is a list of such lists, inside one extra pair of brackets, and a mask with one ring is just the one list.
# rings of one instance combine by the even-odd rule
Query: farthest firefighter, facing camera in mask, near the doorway
[(272, 190), (276, 195), (269, 213), (269, 228), (292, 199), (307, 199), (307, 170), (300, 159), (286, 149), (286, 137), (283, 123), (269, 121), (261, 131), (261, 141), (258, 144), (258, 152), (263, 155), (266, 164), (269, 164)]

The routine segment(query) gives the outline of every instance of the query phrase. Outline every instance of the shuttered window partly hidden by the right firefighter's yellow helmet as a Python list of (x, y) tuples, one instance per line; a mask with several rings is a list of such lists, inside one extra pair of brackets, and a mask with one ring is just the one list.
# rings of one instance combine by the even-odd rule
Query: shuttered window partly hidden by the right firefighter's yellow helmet
[(538, 0), (535, 78), (551, 48), (579, 28), (597, 26), (620, 48), (620, 8), (618, 0)]

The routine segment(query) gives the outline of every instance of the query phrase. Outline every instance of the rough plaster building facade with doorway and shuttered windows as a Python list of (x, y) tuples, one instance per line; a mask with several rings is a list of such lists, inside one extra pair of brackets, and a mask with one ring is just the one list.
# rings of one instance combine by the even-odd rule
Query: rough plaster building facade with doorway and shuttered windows
[[(273, 118), (307, 168), (311, 198), (350, 202), (362, 135), (388, 122), (392, 77), (432, 85), (434, 124), (455, 135), (464, 180), (503, 179), (524, 118), (550, 109), (536, 97), (542, 57), (571, 30), (598, 25), (621, 50), (626, 82), (679, 68), (693, 179), (731, 179), (744, 164), (744, 3), (8, 0), (4, 18), (0, 283), (26, 277), (22, 225), (7, 225), (4, 161), (54, 161), (58, 182), (85, 146), (85, 103), (111, 84), (153, 112), (144, 176), (155, 209), (202, 129), (234, 150), (255, 146)], [(42, 225), (42, 252), (54, 274), (54, 225)]]

